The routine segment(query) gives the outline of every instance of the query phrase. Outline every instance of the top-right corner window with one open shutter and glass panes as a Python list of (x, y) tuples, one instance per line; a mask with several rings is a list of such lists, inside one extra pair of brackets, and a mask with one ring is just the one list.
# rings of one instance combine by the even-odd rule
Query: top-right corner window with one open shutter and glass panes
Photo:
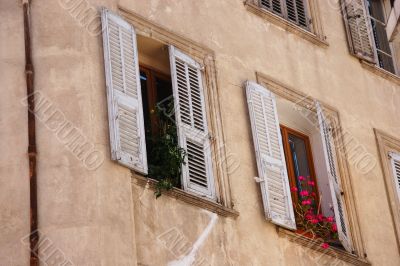
[(395, 74), (391, 44), (381, 0), (342, 0), (350, 52)]

